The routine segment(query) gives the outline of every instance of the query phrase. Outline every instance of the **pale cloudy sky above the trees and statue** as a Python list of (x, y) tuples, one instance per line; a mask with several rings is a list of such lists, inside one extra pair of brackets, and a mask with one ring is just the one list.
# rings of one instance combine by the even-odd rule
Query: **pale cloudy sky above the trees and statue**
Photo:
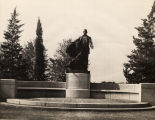
[(43, 40), (53, 57), (63, 39), (75, 40), (88, 30), (94, 49), (89, 55), (91, 82), (125, 82), (123, 64), (135, 48), (133, 35), (141, 19), (149, 14), (154, 0), (0, 0), (0, 42), (8, 19), (17, 8), (24, 23), (20, 43), (36, 37), (37, 20), (43, 27)]

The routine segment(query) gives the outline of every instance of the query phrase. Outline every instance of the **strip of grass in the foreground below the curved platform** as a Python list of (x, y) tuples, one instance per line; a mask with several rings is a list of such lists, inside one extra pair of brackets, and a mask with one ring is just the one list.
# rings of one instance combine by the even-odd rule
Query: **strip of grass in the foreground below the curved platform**
[(53, 111), (0, 104), (0, 119), (19, 120), (155, 120), (155, 110), (131, 112)]

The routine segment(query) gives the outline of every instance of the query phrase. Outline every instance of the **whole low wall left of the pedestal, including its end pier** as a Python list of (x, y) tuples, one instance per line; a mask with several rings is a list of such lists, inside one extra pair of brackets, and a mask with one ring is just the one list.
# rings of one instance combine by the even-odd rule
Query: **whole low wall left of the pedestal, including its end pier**
[(0, 79), (0, 98), (65, 97), (65, 82)]

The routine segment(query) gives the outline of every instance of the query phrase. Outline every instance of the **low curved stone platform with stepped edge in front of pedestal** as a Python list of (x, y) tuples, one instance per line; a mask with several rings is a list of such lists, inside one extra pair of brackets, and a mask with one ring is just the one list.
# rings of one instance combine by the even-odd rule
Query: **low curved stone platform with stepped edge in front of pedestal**
[(110, 99), (7, 99), (7, 104), (63, 110), (141, 110), (151, 108), (151, 105), (147, 102)]

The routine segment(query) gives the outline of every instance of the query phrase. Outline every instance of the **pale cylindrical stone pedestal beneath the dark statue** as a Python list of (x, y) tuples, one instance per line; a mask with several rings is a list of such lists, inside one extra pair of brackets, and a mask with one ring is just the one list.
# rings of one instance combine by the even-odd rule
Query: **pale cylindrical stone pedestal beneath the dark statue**
[(90, 97), (90, 72), (66, 73), (66, 84), (67, 98)]

